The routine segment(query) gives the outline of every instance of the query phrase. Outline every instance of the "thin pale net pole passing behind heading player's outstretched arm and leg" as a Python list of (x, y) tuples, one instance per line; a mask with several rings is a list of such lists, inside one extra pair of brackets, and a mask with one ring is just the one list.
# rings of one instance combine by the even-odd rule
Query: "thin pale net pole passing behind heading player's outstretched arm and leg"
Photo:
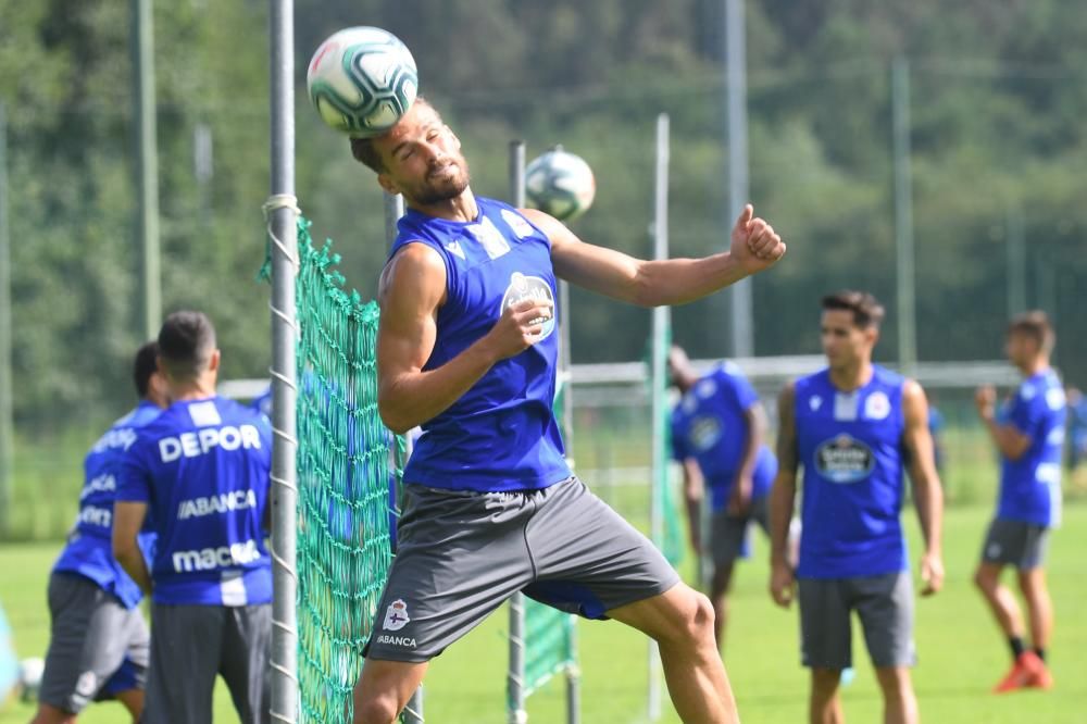
[[(657, 162), (653, 186), (653, 259), (669, 258), (669, 115), (657, 116)], [(658, 548), (664, 546), (664, 511), (661, 496), (667, 477), (669, 454), (660, 426), (667, 414), (664, 399), (664, 375), (667, 363), (667, 337), (671, 309), (653, 308), (651, 390), (652, 390), (652, 482), (649, 496), (650, 537)], [(661, 717), (661, 650), (657, 641), (649, 641), (649, 721)]]

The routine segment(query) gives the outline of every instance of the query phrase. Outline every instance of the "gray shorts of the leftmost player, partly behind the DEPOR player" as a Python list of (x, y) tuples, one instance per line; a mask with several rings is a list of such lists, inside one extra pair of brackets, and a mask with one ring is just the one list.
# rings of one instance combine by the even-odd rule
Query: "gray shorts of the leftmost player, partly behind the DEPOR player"
[(147, 624), (93, 581), (73, 573), (49, 576), (49, 651), (38, 700), (78, 714), (91, 701), (142, 689)]

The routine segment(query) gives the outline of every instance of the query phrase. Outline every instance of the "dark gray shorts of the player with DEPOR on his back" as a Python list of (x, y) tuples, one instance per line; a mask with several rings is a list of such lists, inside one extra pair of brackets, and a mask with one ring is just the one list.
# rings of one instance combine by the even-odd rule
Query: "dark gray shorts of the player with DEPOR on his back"
[(209, 724), (220, 674), (241, 724), (268, 724), (272, 604), (151, 608), (151, 667), (141, 724)]

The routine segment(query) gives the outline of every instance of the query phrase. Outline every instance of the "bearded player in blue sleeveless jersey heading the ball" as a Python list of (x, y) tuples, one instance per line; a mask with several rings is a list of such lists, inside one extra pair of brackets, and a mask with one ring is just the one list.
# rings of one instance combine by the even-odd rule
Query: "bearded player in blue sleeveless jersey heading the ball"
[(416, 101), (353, 155), (408, 211), (382, 274), (378, 405), (422, 425), (397, 557), (355, 688), (355, 722), (393, 721), (427, 662), (518, 590), (660, 642), (685, 721), (735, 722), (709, 600), (575, 478), (552, 412), (555, 277), (677, 304), (769, 269), (785, 245), (747, 207), (728, 252), (645, 262), (538, 211), (473, 195), (460, 141)]

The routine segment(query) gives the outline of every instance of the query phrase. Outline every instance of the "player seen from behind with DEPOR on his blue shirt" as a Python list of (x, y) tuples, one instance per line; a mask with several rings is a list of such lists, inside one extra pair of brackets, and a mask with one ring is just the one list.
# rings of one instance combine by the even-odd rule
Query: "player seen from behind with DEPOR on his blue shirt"
[[(215, 395), (215, 329), (175, 312), (159, 333), (172, 404), (140, 429), (114, 505), (113, 551), (151, 594), (143, 724), (208, 724), (222, 674), (243, 724), (270, 721), (272, 570), (264, 515), (267, 417)], [(150, 571), (136, 537), (158, 533)]]

